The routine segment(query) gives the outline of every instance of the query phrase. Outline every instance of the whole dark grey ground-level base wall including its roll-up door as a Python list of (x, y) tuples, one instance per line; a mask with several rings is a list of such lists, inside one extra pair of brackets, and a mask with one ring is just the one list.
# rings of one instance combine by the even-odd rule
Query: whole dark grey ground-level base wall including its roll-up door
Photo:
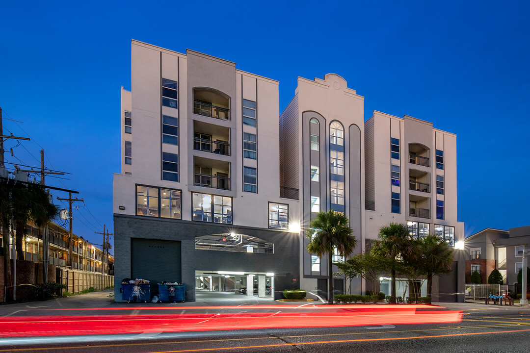
[[(196, 237), (230, 232), (271, 242), (274, 254), (195, 249)], [(298, 288), (298, 264), (298, 233), (114, 214), (114, 298), (117, 302), (123, 301), (120, 292), (123, 278), (183, 283), (186, 300), (195, 301), (196, 270), (273, 273), (275, 299), (280, 299), (284, 289)]]

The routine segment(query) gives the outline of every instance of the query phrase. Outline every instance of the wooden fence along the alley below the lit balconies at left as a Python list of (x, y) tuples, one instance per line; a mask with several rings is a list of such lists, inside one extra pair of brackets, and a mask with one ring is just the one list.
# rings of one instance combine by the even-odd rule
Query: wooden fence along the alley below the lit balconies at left
[(79, 293), (90, 287), (94, 287), (97, 291), (101, 291), (107, 287), (114, 286), (114, 276), (105, 276), (101, 273), (89, 271), (58, 268), (57, 283), (64, 284), (66, 286), (64, 291), (70, 293)]

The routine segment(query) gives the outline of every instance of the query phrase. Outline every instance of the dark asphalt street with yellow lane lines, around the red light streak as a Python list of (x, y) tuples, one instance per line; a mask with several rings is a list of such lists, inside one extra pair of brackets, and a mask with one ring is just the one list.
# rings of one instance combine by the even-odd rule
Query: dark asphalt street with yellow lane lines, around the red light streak
[[(87, 317), (93, 315), (94, 303), (92, 305), (83, 303), (85, 304), (83, 307), (58, 305), (59, 307), (56, 309), (60, 310), (51, 315), (48, 311), (51, 308), (37, 308), (36, 305), (26, 305), (27, 309), (12, 307), (10, 314), (6, 314), (8, 309), (6, 306), (2, 306), (0, 314), (4, 316), (5, 320), (8, 316), (22, 319), (28, 314), (36, 315), (36, 313), (41, 316), (42, 320), (50, 316), (54, 318), (63, 316), (62, 320), (68, 320), (68, 316), (65, 315), (79, 314)], [(122, 314), (125, 313), (128, 318), (135, 318), (142, 314), (167, 315), (169, 310), (176, 311), (175, 314), (182, 313), (182, 310), (193, 314), (205, 314), (206, 311), (208, 314), (214, 314), (221, 310), (226, 314), (246, 312), (269, 313), (275, 316), (296, 312), (299, 314), (293, 318), (293, 323), (304, 318), (307, 318), (307, 323), (313, 326), (319, 326), (324, 322), (314, 317), (314, 314), (319, 313), (321, 308), (304, 308), (301, 311), (296, 309), (298, 305), (295, 306), (293, 303), (266, 303), (270, 307), (235, 305), (228, 309), (219, 309), (215, 305), (209, 305), (210, 307), (206, 310), (197, 309), (197, 303), (186, 304), (186, 309), (181, 306), (167, 306), (166, 310), (162, 307), (140, 309), (142, 306), (130, 308), (109, 303), (100, 306), (100, 309), (96, 311), (100, 314), (104, 312), (103, 309), (107, 309), (107, 312), (111, 314), (121, 312)], [(200, 304), (204, 306), (205, 303)], [(209, 304), (214, 303), (210, 302)], [(307, 303), (295, 304), (307, 306), (305, 305)], [(308, 305), (312, 306), (313, 303), (308, 303)], [(13, 342), (12, 345), (7, 342), (8, 338), (3, 338), (0, 352), (530, 352), (529, 308), (467, 303), (444, 303), (440, 305), (445, 305), (448, 310), (462, 311), (462, 320), (460, 322), (441, 323), (393, 323), (399, 315), (384, 316), (384, 309), (379, 309), (379, 307), (386, 305), (381, 305), (377, 307), (379, 312), (372, 311), (368, 314), (372, 315), (372, 322), (378, 322), (376, 325), (360, 324), (359, 320), (361, 319), (352, 316), (351, 326), (325, 328), (286, 327), (163, 333), (155, 332), (155, 330), (134, 334), (115, 332), (90, 336), (51, 337), (42, 337), (36, 332), (32, 337), (19, 337), (18, 341)], [(341, 305), (337, 306), (344, 308)], [(445, 311), (445, 309), (439, 308), (419, 308), (417, 315), (423, 315), (424, 311), (425, 314), (431, 314), (432, 310), (437, 310), (440, 313)], [(353, 309), (333, 309), (332, 311), (341, 312), (342, 315), (358, 314), (358, 311)], [(65, 314), (65, 312), (67, 313)], [(275, 314), (278, 312), (280, 313)], [(107, 314), (105, 316), (109, 317)], [(241, 322), (243, 321), (241, 319)], [(30, 324), (28, 322), (28, 325)], [(123, 321), (123, 327), (127, 327), (127, 321)]]

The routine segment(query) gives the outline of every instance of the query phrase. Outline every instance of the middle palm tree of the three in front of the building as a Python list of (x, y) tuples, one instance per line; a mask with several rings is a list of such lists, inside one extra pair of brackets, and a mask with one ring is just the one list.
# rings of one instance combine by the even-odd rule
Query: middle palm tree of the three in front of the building
[(404, 258), (412, 258), (417, 247), (411, 239), (409, 229), (402, 223), (390, 223), (379, 229), (380, 241), (376, 243), (379, 254), (390, 259), (391, 302), (396, 302), (396, 270), (402, 265)]

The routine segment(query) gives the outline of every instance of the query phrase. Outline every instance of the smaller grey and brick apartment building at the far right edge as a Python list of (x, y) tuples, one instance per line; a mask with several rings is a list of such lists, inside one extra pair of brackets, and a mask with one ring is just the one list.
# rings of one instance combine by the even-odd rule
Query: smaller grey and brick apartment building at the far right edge
[(488, 283), (493, 269), (498, 269), (504, 283), (517, 283), (523, 268), (523, 250), (530, 248), (530, 226), (510, 228), (509, 231), (486, 228), (465, 239), (465, 283), (471, 283), (471, 274), (477, 271), (481, 283)]

